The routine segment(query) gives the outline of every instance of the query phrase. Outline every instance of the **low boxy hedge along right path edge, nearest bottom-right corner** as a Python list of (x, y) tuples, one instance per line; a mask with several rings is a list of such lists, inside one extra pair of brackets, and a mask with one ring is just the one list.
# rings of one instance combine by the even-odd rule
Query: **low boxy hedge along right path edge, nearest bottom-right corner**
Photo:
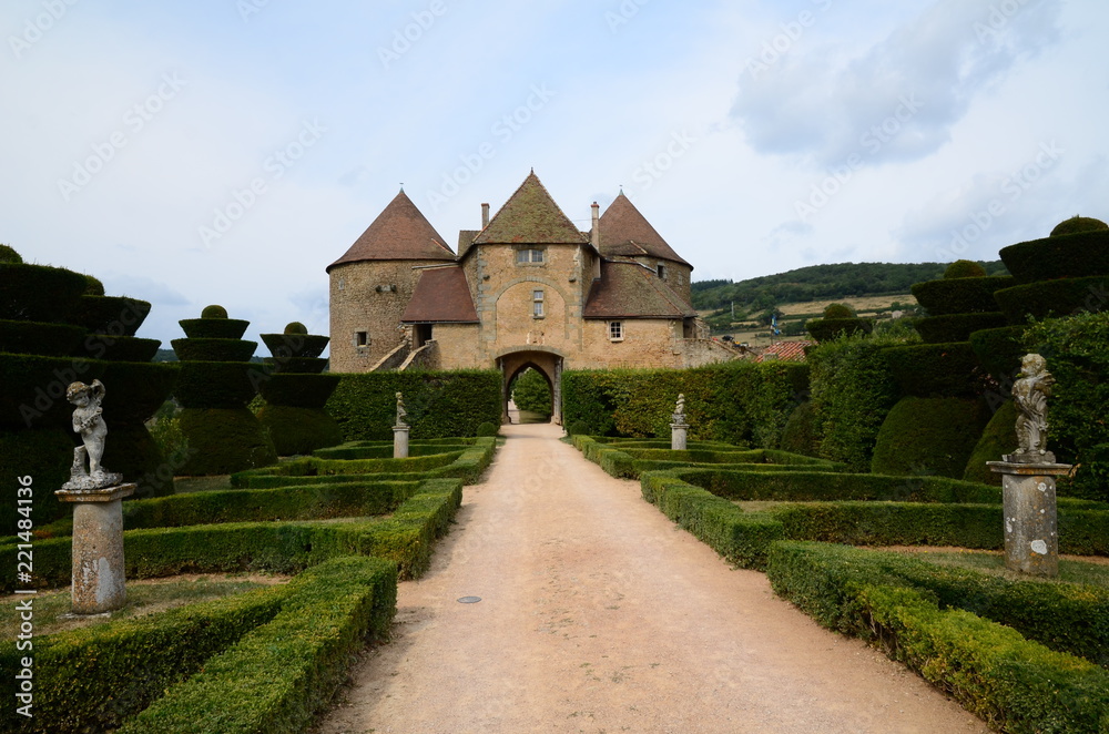
[(1105, 669), (970, 612), (940, 611), (928, 592), (864, 581), (848, 567), (836, 573), (822, 563), (832, 552), (774, 543), (767, 572), (774, 590), (825, 626), (882, 645), (1001, 731), (1105, 731)]

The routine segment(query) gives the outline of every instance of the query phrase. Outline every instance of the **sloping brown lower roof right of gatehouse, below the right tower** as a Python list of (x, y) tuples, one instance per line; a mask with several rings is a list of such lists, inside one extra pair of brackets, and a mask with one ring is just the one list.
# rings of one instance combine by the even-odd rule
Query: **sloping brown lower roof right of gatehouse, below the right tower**
[(582, 310), (584, 318), (692, 318), (696, 312), (653, 271), (639, 263), (602, 262)]

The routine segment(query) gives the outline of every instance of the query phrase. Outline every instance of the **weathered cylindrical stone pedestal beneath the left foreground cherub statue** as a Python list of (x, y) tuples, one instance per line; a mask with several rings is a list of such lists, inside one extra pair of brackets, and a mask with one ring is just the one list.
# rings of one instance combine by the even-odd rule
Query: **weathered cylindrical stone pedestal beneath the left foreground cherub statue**
[(100, 614), (128, 601), (123, 567), (123, 498), (136, 485), (54, 492), (73, 502), (73, 613)]

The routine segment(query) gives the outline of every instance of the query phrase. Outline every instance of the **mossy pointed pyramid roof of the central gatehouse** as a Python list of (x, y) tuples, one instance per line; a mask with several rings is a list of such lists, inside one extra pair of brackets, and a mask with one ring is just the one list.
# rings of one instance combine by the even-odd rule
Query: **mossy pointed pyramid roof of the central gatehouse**
[(485, 244), (589, 244), (532, 171), (474, 239)]

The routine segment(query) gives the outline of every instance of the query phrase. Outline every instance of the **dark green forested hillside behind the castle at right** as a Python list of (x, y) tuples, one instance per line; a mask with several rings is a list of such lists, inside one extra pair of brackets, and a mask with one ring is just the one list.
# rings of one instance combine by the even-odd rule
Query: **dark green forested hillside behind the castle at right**
[[(1006, 274), (1001, 261), (984, 265), (990, 275)], [(693, 284), (693, 306), (703, 310), (734, 303), (737, 309), (761, 310), (782, 303), (908, 293), (914, 283), (942, 278), (946, 267), (946, 263), (838, 263), (736, 283), (702, 281)]]

